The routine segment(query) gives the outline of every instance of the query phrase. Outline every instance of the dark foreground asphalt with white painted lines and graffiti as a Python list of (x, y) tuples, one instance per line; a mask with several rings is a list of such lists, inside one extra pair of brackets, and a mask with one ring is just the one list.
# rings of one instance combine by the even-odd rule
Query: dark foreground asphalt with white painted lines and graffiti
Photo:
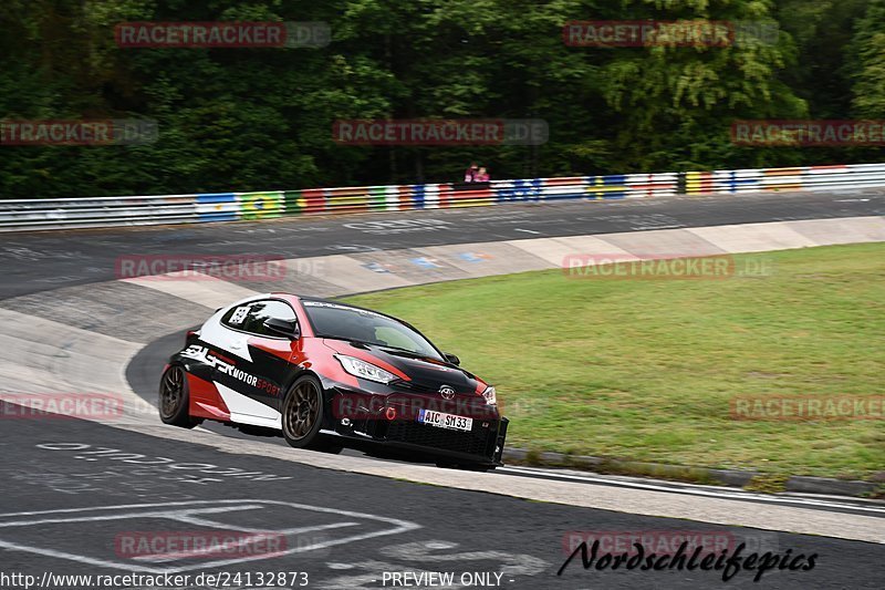
[[(22, 418), (3, 428), (3, 456), (19, 460), (7, 460), (2, 468), (2, 568), (37, 579), (44, 572), (304, 571), (309, 588), (344, 589), (384, 588), (385, 572), (450, 571), (458, 579), (466, 572), (502, 575), (500, 586), (485, 588), (882, 587), (882, 546), (875, 544), (637, 517), (270, 458), (211, 455), (200, 445), (76, 420), (58, 420), (48, 429), (45, 420)], [(174, 463), (148, 465), (158, 457)], [(236, 469), (257, 475), (222, 475)], [(273, 550), (287, 555), (237, 562), (270, 549), (199, 558), (179, 549), (166, 561), (139, 559), (139, 539), (155, 538), (147, 535), (180, 538), (223, 531), (225, 526), (279, 535)], [(743, 570), (728, 582), (721, 571), (699, 569), (585, 571), (580, 558), (556, 576), (566, 557), (563, 544), (574, 531), (707, 535), (725, 546), (745, 542), (745, 555), (771, 550), (784, 556), (789, 550), (791, 558), (818, 557), (811, 571), (775, 570), (758, 583), (754, 572)], [(214, 565), (218, 561), (228, 562)], [(194, 584), (181, 587), (188, 586)]]

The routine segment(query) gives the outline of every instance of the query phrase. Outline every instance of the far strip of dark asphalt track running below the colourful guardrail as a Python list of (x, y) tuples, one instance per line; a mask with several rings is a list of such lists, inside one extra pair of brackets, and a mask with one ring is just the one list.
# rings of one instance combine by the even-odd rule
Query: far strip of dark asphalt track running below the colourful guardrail
[(759, 193), (0, 236), (0, 300), (116, 277), (125, 255), (304, 258), (525, 238), (885, 215), (885, 192)]

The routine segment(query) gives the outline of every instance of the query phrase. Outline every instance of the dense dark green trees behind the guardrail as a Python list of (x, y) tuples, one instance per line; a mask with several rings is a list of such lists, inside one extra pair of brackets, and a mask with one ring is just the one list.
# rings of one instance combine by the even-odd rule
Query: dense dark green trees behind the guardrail
[[(777, 23), (775, 42), (566, 46), (572, 20)], [(124, 21), (325, 21), (322, 49), (122, 49)], [(736, 118), (885, 117), (885, 0), (4, 0), (0, 118), (149, 118), (144, 146), (2, 146), (0, 197), (872, 162)], [(340, 118), (543, 118), (541, 146), (341, 146)]]

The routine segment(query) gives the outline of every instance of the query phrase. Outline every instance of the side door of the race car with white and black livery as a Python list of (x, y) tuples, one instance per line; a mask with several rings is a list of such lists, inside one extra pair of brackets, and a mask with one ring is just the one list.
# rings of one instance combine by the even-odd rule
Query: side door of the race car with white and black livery
[(216, 383), (231, 420), (280, 427), (280, 398), (290, 372), (293, 342), (264, 327), (270, 318), (296, 320), (289, 303), (261, 299), (236, 306), (221, 318), (229, 358), (216, 364)]

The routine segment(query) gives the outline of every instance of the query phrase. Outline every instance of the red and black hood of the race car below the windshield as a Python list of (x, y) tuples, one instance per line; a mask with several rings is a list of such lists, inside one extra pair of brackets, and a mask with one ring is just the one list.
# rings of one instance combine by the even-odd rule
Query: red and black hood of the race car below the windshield
[[(326, 346), (341, 354), (347, 354), (375, 364), (388, 364), (409, 377), (409, 387), (424, 392), (439, 392), (444, 385), (460, 394), (476, 394), (486, 384), (464, 369), (436, 359), (417, 355), (375, 344), (345, 342), (323, 339)], [(382, 363), (378, 363), (381, 361)]]

